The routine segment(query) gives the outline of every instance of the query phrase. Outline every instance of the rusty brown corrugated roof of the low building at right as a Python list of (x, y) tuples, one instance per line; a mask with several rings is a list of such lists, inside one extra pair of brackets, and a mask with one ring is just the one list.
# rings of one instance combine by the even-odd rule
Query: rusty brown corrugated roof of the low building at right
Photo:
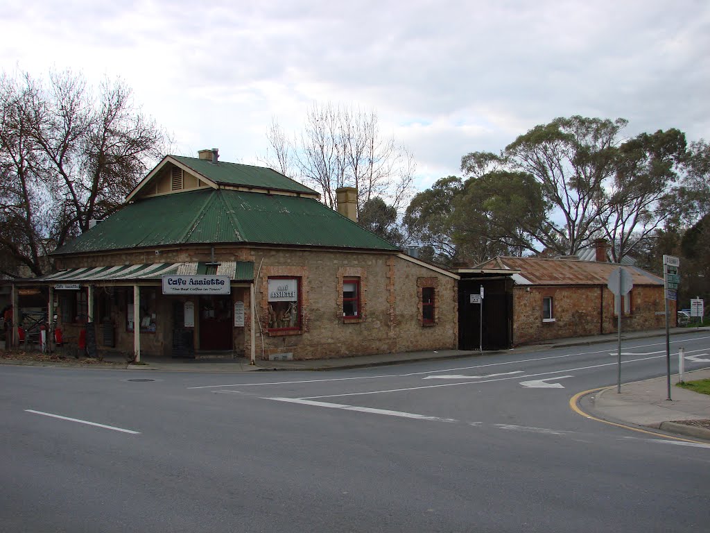
[[(478, 266), (481, 269), (518, 269), (521, 284), (530, 285), (606, 285), (616, 263), (537, 257), (495, 257)], [(634, 285), (663, 285), (663, 280), (638, 268), (621, 265), (630, 272)]]

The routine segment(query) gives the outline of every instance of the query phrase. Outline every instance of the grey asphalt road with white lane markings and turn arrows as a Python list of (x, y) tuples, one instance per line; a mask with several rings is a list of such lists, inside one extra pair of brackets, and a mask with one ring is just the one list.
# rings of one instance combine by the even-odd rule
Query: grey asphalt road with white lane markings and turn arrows
[[(679, 346), (710, 365), (710, 336)], [(624, 382), (665, 374), (665, 338), (622, 350)], [(706, 531), (710, 446), (569, 408), (616, 372), (615, 343), (337, 372), (0, 365), (0, 531)]]

